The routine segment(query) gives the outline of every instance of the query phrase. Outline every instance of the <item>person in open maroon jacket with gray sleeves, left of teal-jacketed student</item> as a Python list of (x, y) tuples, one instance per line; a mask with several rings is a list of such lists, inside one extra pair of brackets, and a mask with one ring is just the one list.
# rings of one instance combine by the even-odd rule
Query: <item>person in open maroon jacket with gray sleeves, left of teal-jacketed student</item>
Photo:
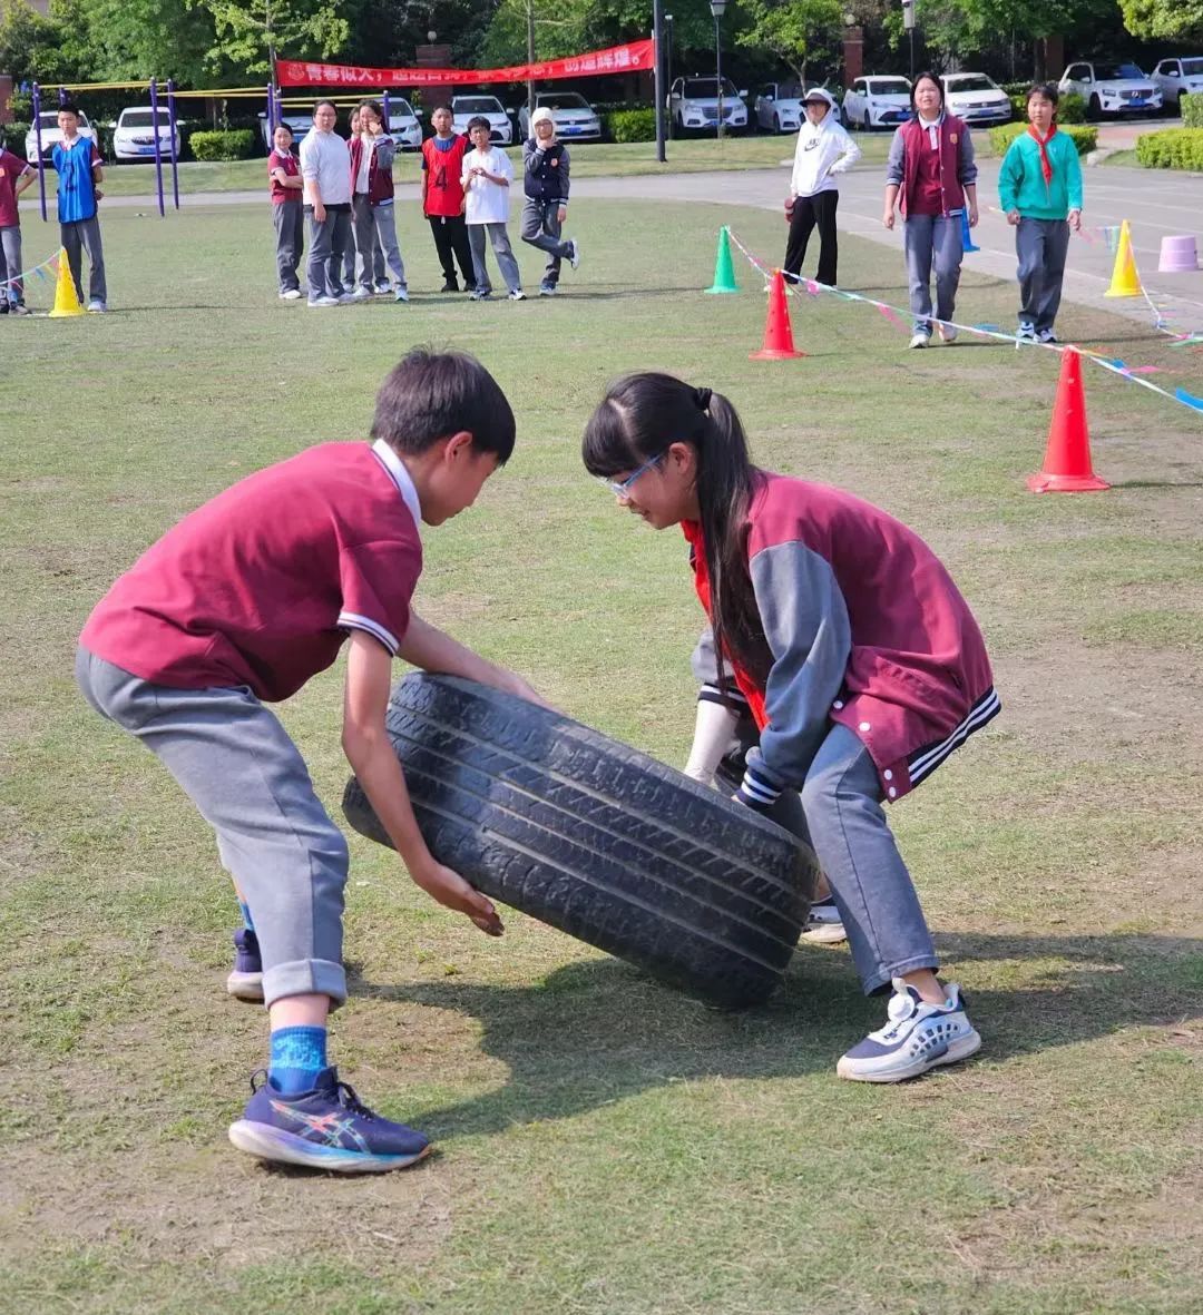
[[(890, 143), (886, 164), (886, 213), (882, 224), (894, 227), (894, 208), (903, 213), (903, 246), (915, 316), (912, 347), (932, 341), (932, 264), (936, 267), (936, 320), (944, 342), (957, 330), (948, 323), (957, 309), (961, 260), (961, 216), (978, 222), (978, 167), (969, 129), (946, 113), (944, 88), (934, 74), (920, 74), (911, 88), (915, 117), (903, 124)], [(944, 322), (938, 322), (944, 321)]]

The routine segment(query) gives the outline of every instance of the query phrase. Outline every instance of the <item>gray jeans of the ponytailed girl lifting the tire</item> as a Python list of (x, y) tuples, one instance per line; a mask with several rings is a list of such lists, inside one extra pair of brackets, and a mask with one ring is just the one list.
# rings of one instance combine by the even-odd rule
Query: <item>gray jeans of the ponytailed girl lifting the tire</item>
[[(741, 727), (741, 738), (750, 748), (755, 727), (746, 722), (750, 732)], [(742, 780), (721, 769), (716, 776), (732, 790)], [(846, 726), (832, 726), (819, 746), (800, 800), (782, 792), (769, 817), (819, 857), (866, 995), (891, 977), (938, 967), (915, 884), (886, 821), (877, 768)]]

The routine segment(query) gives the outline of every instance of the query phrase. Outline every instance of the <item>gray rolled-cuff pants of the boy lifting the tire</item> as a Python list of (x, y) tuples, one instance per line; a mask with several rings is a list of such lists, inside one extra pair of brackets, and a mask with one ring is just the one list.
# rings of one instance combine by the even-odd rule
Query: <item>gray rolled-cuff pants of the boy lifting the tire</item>
[(245, 685), (154, 685), (86, 648), (75, 679), (97, 713), (159, 757), (216, 832), (254, 919), (266, 1003), (309, 993), (342, 1003), (346, 840), (276, 717)]

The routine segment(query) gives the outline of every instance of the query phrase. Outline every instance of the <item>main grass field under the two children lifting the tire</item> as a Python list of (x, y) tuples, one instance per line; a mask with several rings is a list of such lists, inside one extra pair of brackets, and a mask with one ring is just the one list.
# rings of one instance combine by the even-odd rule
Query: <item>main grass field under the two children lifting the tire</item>
[[(426, 291), (429, 233), (407, 212), (415, 300), (313, 313), (275, 297), (266, 206), (115, 212), (113, 313), (0, 321), (5, 1308), (1203, 1307), (1199, 417), (1090, 370), (1113, 488), (1035, 497), (1052, 352), (907, 352), (871, 309), (803, 299), (808, 358), (749, 362), (758, 280), (741, 266), (741, 296), (698, 291), (721, 222), (777, 254), (777, 214), (588, 203), (558, 300), (469, 305)], [(844, 238), (841, 281), (906, 301), (900, 250)], [(1013, 308), (967, 266), (967, 320)], [(1203, 392), (1199, 355), (1139, 325), (1070, 305), (1058, 329)], [(766, 466), (857, 490), (941, 554), (1004, 714), (892, 821), (978, 1060), (841, 1082), (837, 1056), (882, 1019), (842, 948), (799, 951), (769, 1007), (730, 1016), (517, 914), (490, 942), (353, 836), (333, 1055), (440, 1153), (332, 1181), (229, 1147), (265, 1055), (261, 1011), (222, 989), (233, 897), (174, 782), (75, 693), (75, 636), (204, 498), (363, 435), (415, 342), (479, 354), (520, 426), (478, 506), (428, 533), (420, 610), (667, 761), (692, 725), (699, 611), (682, 540), (582, 471), (608, 377), (654, 366), (728, 393)], [(336, 814), (340, 692), (336, 668), (283, 709)]]

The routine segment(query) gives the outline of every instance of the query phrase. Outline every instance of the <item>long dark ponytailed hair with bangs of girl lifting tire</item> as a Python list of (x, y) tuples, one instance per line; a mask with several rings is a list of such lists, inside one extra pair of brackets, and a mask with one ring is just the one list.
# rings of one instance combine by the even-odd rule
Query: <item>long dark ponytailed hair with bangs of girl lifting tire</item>
[(580, 455), (591, 475), (608, 477), (642, 466), (673, 443), (688, 443), (698, 454), (715, 650), (763, 680), (770, 654), (748, 571), (748, 505), (761, 472), (748, 456), (734, 406), (673, 375), (627, 375), (611, 384), (586, 425)]

